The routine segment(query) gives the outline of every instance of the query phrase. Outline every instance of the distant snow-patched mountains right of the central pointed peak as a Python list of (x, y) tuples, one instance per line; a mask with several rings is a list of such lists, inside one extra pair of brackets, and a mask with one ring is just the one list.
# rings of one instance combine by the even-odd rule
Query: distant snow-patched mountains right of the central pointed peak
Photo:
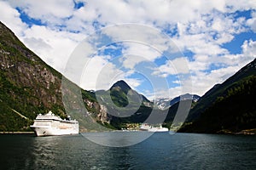
[(196, 94), (183, 94), (173, 99), (164, 99), (164, 98), (154, 99), (154, 104), (157, 105), (159, 109), (165, 110), (171, 107), (172, 105), (177, 104), (181, 100), (188, 100), (188, 99), (192, 99), (192, 101), (197, 102), (198, 99), (200, 99), (200, 96)]

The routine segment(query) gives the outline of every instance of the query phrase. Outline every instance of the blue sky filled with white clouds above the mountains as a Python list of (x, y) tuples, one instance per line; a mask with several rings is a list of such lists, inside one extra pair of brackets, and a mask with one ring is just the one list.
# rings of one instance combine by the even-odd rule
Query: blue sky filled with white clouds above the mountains
[(87, 90), (203, 95), (256, 58), (255, 0), (1, 0), (0, 20)]

